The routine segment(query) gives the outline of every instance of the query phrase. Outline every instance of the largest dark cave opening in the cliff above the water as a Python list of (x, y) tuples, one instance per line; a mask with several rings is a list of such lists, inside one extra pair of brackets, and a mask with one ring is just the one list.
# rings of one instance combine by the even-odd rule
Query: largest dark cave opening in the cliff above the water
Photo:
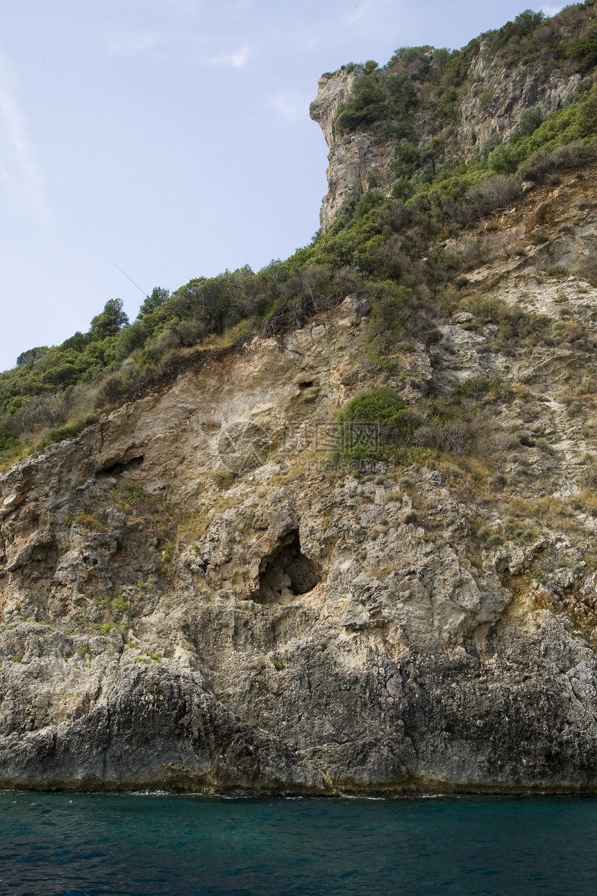
[(320, 582), (317, 564), (301, 550), (298, 530), (288, 532), (260, 563), (260, 585), (252, 599), (259, 604), (286, 603)]

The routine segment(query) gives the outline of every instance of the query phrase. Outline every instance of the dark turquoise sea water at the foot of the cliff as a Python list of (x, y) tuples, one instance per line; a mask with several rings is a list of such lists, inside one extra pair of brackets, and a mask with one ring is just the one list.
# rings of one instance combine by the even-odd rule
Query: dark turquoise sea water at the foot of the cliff
[(0, 792), (0, 896), (597, 893), (597, 798)]

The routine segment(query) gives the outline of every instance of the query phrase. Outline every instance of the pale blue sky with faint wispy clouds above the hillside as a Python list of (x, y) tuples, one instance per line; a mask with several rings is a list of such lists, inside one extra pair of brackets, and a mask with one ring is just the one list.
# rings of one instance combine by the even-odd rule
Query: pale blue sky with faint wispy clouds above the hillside
[[(0, 370), (310, 242), (323, 72), (462, 47), (516, 0), (0, 0)], [(534, 6), (533, 8), (540, 8)], [(561, 5), (543, 6), (548, 14)]]

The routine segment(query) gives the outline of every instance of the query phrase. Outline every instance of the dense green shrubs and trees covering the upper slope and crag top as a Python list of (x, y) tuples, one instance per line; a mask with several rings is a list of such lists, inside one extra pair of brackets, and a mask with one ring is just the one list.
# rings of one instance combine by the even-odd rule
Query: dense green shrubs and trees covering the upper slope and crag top
[[(339, 121), (345, 128), (379, 125), (407, 136), (409, 116), (425, 108), (441, 125), (453, 113), (451, 104), (457, 106), (457, 90), (481, 46), (505, 60), (549, 52), (586, 71), (597, 61), (591, 55), (597, 41), (592, 15), (593, 0), (587, 0), (550, 20), (522, 13), (485, 35), (483, 44), (472, 41), (460, 51), (401, 49), (383, 70), (365, 65)], [(392, 195), (372, 185), (327, 234), (286, 261), (257, 273), (245, 267), (191, 280), (172, 294), (154, 289), (132, 323), (122, 302), (110, 299), (88, 332), (59, 346), (23, 351), (17, 366), (0, 375), (0, 454), (10, 459), (39, 439), (44, 446), (73, 435), (100, 409), (117, 406), (206, 351), (226, 349), (252, 333), (283, 334), (352, 292), (367, 294), (373, 306), (363, 351), (371, 365), (390, 369), (400, 347), (437, 339), (437, 323), (457, 302), (465, 271), (490, 255), (489, 237), (482, 245), (461, 239), (457, 251), (447, 245), (449, 237), (513, 202), (524, 180), (557, 177), (559, 168), (593, 157), (596, 135), (597, 88), (591, 88), (578, 91), (547, 121), (539, 110), (528, 110), (510, 141), (485, 147), (466, 165), (442, 163), (440, 152), (431, 159), (429, 151), (399, 144)], [(514, 346), (516, 340), (554, 344), (570, 338), (553, 322), (529, 321), (503, 307), (483, 314), (499, 324), (501, 348), (508, 339)], [(439, 410), (430, 415), (437, 423)], [(411, 441), (415, 429), (408, 429)]]

